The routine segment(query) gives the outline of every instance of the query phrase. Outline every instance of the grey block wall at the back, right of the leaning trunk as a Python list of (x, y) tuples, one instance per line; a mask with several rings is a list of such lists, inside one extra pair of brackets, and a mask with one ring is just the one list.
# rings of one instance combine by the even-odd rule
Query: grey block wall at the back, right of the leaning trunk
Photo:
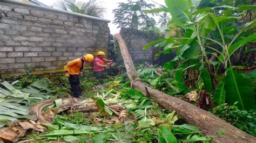
[(153, 48), (150, 47), (145, 51), (142, 48), (149, 44), (149, 42), (158, 39), (159, 35), (154, 32), (132, 30), (129, 28), (121, 28), (120, 34), (124, 38), (133, 62), (153, 62)]

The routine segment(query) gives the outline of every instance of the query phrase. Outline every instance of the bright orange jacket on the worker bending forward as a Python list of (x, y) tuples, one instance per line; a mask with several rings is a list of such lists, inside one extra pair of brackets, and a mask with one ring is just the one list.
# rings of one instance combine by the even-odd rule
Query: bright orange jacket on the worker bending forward
[(82, 61), (81, 58), (78, 58), (68, 62), (64, 66), (64, 70), (65, 72), (68, 72), (70, 75), (79, 75), (80, 71), (84, 68), (83, 65), (84, 61)]

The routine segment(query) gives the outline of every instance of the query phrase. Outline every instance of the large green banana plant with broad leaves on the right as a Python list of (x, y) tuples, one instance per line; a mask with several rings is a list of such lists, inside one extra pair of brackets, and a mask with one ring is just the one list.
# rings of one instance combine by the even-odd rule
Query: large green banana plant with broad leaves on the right
[[(192, 2), (187, 0), (166, 0), (165, 3), (172, 15), (172, 22), (180, 28), (183, 28), (183, 37), (158, 39), (152, 41), (144, 48), (157, 45), (158, 47), (164, 47), (163, 53), (169, 53), (174, 48), (177, 49), (176, 58), (167, 62), (165, 67), (173, 69), (173, 67), (177, 65), (176, 63), (179, 62), (180, 66), (178, 66), (178, 69), (182, 67), (181, 65), (185, 65), (183, 66), (183, 70), (200, 70), (200, 77), (204, 82), (204, 88), (209, 92), (214, 91), (217, 87), (217, 81), (215, 80), (217, 72), (215, 71), (214, 74), (212, 58), (210, 60), (208, 56), (216, 56), (218, 59), (218, 68), (215, 70), (218, 71), (220, 66), (223, 66), (225, 69), (225, 82), (219, 87), (225, 88), (226, 101), (230, 104), (238, 101), (239, 103), (237, 105), (240, 108), (252, 109), (255, 105), (253, 92), (251, 92), (250, 87), (247, 87), (243, 77), (239, 76), (239, 74), (233, 70), (230, 56), (237, 51), (237, 49), (256, 39), (256, 35), (248, 31), (254, 28), (255, 20), (244, 24), (240, 30), (236, 25), (236, 29), (239, 31), (235, 33), (234, 37), (226, 34), (227, 32), (225, 31), (231, 27), (227, 24), (241, 18), (239, 12), (255, 9), (255, 6), (240, 5), (235, 8), (233, 6), (223, 5), (199, 9), (193, 7)], [(220, 8), (222, 11), (216, 12), (216, 10)], [(232, 11), (230, 12), (231, 14), (228, 16), (221, 14), (220, 12), (225, 12), (224, 9)], [(213, 39), (213, 35), (218, 35), (220, 40)], [(232, 37), (232, 39), (230, 37)], [(212, 47), (212, 45), (214, 47)], [(213, 52), (209, 52), (210, 50)], [(197, 61), (197, 63), (190, 64), (192, 60)], [(214, 64), (216, 65), (216, 62)], [(222, 94), (217, 96), (221, 98), (217, 99), (217, 101), (223, 103), (223, 90), (218, 89), (217, 93)], [(250, 101), (247, 99), (250, 99)]]

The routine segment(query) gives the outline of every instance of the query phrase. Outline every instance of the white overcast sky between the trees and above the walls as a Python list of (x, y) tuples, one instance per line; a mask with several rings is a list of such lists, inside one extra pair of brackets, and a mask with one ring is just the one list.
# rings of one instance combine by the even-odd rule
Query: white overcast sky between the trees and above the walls
[[(57, 0), (38, 0), (39, 2), (42, 2), (46, 5), (52, 6), (55, 5)], [(87, 2), (88, 0), (77, 0), (77, 1), (85, 1)], [(114, 19), (114, 15), (112, 13), (113, 9), (116, 9), (118, 7), (118, 3), (120, 2), (127, 2), (127, 0), (98, 0), (99, 3), (102, 4), (102, 6), (104, 6), (104, 8), (107, 9), (107, 12), (105, 13), (104, 18), (105, 19), (109, 19), (111, 20), (111, 23), (109, 23), (109, 27), (110, 27), (110, 33), (114, 34), (119, 32), (119, 29), (117, 28), (117, 25), (112, 24), (112, 21)], [(164, 0), (147, 0), (147, 1), (154, 1), (157, 2), (159, 4), (163, 4), (165, 5)], [(154, 17), (157, 20), (157, 17)]]

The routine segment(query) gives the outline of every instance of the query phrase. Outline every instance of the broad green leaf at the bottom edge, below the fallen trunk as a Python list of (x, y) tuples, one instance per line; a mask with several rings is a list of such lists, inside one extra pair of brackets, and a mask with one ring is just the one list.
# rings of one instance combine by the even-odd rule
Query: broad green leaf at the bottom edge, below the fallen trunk
[(157, 135), (159, 137), (160, 143), (177, 142), (177, 139), (174, 136), (174, 134), (165, 126), (159, 126), (157, 130)]

